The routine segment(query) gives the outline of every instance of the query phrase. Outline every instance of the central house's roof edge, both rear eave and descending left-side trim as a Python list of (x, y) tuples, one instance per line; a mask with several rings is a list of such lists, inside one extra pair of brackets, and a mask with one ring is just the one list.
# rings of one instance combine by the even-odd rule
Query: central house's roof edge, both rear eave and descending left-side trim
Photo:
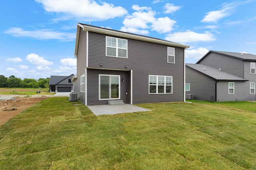
[(77, 25), (78, 25), (78, 29), (77, 29), (77, 33), (76, 33), (75, 57), (77, 55), (77, 49), (78, 49), (78, 39), (79, 39), (79, 33), (80, 33), (79, 27), (82, 27), (83, 31), (92, 31), (92, 32), (103, 33), (103, 34), (107, 34), (107, 35), (115, 35), (115, 36), (119, 36), (119, 37), (126, 37), (126, 38), (130, 38), (130, 39), (137, 39), (137, 40), (141, 40), (141, 41), (148, 41), (148, 42), (158, 43), (158, 44), (165, 44), (165, 45), (170, 45), (170, 46), (174, 46), (174, 47), (182, 47), (184, 49), (187, 49), (190, 47), (189, 45), (174, 43), (174, 42), (166, 41), (163, 39), (147, 37), (144, 35), (138, 35), (138, 34), (129, 33), (129, 32), (117, 31), (114, 29), (96, 27), (96, 26), (87, 25), (87, 24), (83, 24), (83, 23), (78, 23)]

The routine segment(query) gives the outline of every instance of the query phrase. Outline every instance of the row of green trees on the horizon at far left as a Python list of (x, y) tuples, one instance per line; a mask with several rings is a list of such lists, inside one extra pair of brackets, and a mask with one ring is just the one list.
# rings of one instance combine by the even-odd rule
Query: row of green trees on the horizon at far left
[(0, 75), (0, 88), (49, 88), (50, 78), (17, 78), (15, 76), (5, 77)]

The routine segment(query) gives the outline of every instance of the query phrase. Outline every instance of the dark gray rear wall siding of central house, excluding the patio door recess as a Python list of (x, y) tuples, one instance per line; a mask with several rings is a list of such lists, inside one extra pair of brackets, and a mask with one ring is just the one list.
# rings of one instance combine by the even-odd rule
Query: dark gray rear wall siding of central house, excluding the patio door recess
[[(167, 45), (128, 40), (128, 58), (106, 56), (106, 36), (89, 32), (88, 67), (133, 70), (133, 103), (181, 102), (184, 100), (184, 49), (175, 48), (175, 63), (167, 63)], [(100, 66), (103, 64), (103, 66)], [(128, 66), (125, 68), (125, 66)], [(149, 75), (172, 76), (172, 94), (149, 94)], [(98, 79), (98, 78), (96, 78)], [(88, 87), (89, 88), (89, 87)], [(88, 101), (89, 102), (89, 101)]]

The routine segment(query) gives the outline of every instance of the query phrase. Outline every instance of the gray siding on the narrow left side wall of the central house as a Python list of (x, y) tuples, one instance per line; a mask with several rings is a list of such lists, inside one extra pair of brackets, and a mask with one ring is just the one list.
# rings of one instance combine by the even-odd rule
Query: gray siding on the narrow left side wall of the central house
[(76, 90), (77, 97), (80, 99), (80, 101), (85, 104), (85, 93), (80, 92), (80, 77), (85, 74), (85, 67), (86, 67), (86, 31), (83, 31), (82, 28), (80, 28), (80, 35), (79, 35), (79, 41), (78, 41), (78, 53), (77, 53), (77, 81), (76, 81)]

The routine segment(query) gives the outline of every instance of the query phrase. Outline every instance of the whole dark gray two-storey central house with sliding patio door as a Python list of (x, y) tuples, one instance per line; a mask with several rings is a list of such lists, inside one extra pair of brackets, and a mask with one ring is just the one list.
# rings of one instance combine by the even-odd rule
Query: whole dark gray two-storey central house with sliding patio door
[(183, 102), (189, 46), (78, 23), (74, 93), (87, 105)]

